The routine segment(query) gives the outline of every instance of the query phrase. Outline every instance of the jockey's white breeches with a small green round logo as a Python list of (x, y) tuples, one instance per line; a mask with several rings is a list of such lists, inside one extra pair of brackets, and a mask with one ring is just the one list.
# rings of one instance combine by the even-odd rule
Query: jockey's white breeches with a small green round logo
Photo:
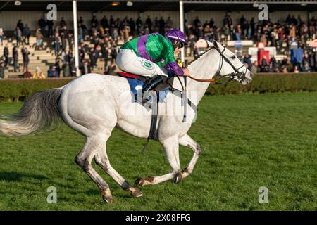
[(120, 49), (117, 56), (117, 65), (120, 70), (130, 72), (135, 75), (144, 77), (154, 77), (156, 75), (168, 77), (165, 68), (160, 68), (159, 65), (138, 57), (133, 50)]

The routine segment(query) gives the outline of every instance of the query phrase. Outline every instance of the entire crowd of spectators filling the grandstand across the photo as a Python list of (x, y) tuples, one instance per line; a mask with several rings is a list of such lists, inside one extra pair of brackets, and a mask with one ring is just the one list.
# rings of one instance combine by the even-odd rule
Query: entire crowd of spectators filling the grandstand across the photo
[[(49, 66), (46, 77), (69, 77), (75, 76), (75, 58), (73, 56), (73, 32), (68, 30), (68, 24), (62, 17), (60, 21), (46, 21), (40, 18), (38, 29), (35, 32), (36, 45), (35, 50), (42, 49), (43, 39), (49, 40), (54, 49), (56, 63)], [(89, 29), (87, 28), (89, 27)], [(109, 18), (104, 16), (97, 20), (96, 15), (92, 16), (89, 21), (84, 21), (82, 17), (78, 20), (78, 51), (80, 58), (80, 71), (83, 74), (91, 72), (97, 67), (98, 61), (104, 62), (104, 74), (113, 74), (116, 70), (116, 56), (119, 41), (128, 41), (132, 37), (151, 32), (165, 34), (167, 30), (173, 28), (173, 20), (168, 17), (164, 20), (161, 18), (150, 18), (149, 16), (143, 21), (141, 18), (134, 20), (125, 17), (123, 19)], [(311, 72), (317, 71), (317, 53), (312, 48), (306, 46), (306, 41), (316, 39), (317, 23), (312, 17), (309, 23), (305, 23), (300, 16), (295, 18), (288, 15), (285, 22), (260, 21), (255, 22), (254, 18), (247, 20), (244, 15), (240, 18), (239, 23), (234, 24), (230, 14), (227, 13), (223, 19), (223, 25), (217, 27), (213, 18), (201, 23), (197, 16), (192, 23), (185, 20), (185, 33), (187, 35), (186, 56), (197, 56), (195, 43), (198, 39), (208, 39), (220, 41), (226, 44), (230, 40), (252, 40), (254, 43), (262, 42), (265, 46), (274, 46), (278, 53), (285, 55), (285, 59), (276, 60), (275, 57), (263, 57), (261, 62), (251, 62), (251, 56), (248, 54), (241, 58), (249, 70), (252, 72)], [(22, 47), (23, 71), (24, 77), (44, 77), (42, 71), (37, 68), (34, 75), (28, 68), (29, 54), (27, 46), (30, 44), (30, 28), (23, 24), (22, 20), (18, 23), (13, 32), (13, 38), (16, 44), (13, 46), (13, 68), (17, 71), (18, 65), (18, 46)], [(4, 30), (0, 28), (0, 44), (4, 39)], [(87, 43), (89, 41), (92, 47)], [(68, 46), (68, 48), (66, 47)], [(302, 49), (301, 61), (294, 62), (290, 58), (294, 46)], [(68, 49), (68, 51), (66, 50)], [(8, 67), (8, 46), (4, 47), (3, 62), (0, 68)], [(89, 57), (85, 57), (89, 56)], [(89, 58), (89, 59), (87, 59)], [(1, 77), (1, 70), (0, 70)]]

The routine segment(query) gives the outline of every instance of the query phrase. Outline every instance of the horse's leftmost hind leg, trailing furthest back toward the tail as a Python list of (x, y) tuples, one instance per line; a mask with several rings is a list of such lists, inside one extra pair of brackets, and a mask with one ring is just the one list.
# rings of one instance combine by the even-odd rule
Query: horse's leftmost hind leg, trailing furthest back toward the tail
[(88, 176), (97, 184), (99, 190), (101, 191), (102, 198), (107, 202), (111, 203), (113, 197), (111, 195), (110, 188), (106, 181), (101, 178), (101, 176), (92, 167), (92, 159), (94, 155), (100, 148), (104, 148), (106, 140), (103, 136), (88, 136), (85, 146), (80, 153), (75, 158), (75, 162), (82, 167)]

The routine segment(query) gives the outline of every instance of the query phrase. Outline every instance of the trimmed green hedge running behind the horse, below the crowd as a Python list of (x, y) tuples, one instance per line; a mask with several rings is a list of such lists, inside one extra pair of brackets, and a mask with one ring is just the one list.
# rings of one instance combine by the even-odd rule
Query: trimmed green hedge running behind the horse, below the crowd
[[(36, 91), (60, 87), (71, 78), (59, 79), (0, 79), (0, 101), (24, 100)], [(317, 91), (317, 73), (257, 74), (253, 81), (243, 86), (237, 82), (210, 85), (207, 94), (239, 94), (268, 92)]]

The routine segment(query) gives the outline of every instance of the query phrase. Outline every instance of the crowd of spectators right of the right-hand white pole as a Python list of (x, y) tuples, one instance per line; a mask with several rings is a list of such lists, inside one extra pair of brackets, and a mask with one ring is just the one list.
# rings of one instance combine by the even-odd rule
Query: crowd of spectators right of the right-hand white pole
[[(245, 55), (242, 60), (253, 68), (254, 72), (312, 72), (317, 71), (316, 49), (307, 46), (307, 41), (317, 38), (316, 18), (311, 17), (309, 23), (305, 23), (298, 15), (288, 15), (284, 22), (275, 23), (263, 20), (255, 22), (254, 18), (247, 20), (244, 15), (236, 25), (227, 13), (223, 19), (223, 26), (217, 27), (211, 20), (201, 23), (197, 16), (193, 23), (187, 25), (186, 33), (189, 40), (190, 54), (194, 53), (194, 43), (197, 39), (215, 39), (222, 43), (227, 41), (251, 40), (255, 44), (261, 42), (264, 46), (276, 47), (279, 54), (285, 55), (278, 62), (275, 57), (263, 57), (261, 62), (251, 63), (251, 56)], [(301, 60), (293, 60), (292, 50), (302, 49)]]

